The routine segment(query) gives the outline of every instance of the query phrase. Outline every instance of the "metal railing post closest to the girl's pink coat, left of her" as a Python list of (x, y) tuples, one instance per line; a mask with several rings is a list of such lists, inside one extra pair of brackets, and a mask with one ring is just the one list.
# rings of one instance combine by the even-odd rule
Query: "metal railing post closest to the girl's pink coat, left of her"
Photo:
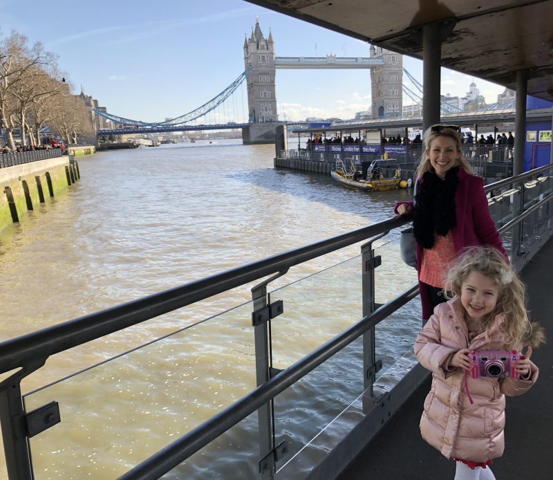
[[(375, 302), (375, 268), (382, 263), (379, 255), (375, 256), (373, 241), (384, 237), (385, 232), (371, 239), (361, 246), (362, 261), (362, 315), (371, 315), (379, 304)], [(373, 384), (376, 373), (382, 368), (382, 361), (376, 360), (375, 327), (371, 327), (363, 334), (363, 413), (367, 414), (375, 405)]]

